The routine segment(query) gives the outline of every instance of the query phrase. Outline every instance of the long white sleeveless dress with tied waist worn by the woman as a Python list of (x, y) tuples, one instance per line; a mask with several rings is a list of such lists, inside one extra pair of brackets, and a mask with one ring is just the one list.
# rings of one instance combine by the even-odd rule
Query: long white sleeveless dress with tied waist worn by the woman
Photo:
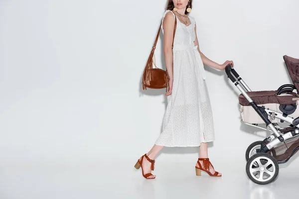
[[(166, 10), (164, 16), (169, 11)], [(189, 19), (191, 24), (186, 26), (177, 18), (172, 49), (172, 94), (167, 96), (162, 133), (156, 145), (191, 147), (200, 146), (201, 142), (214, 141), (213, 115), (205, 71), (197, 46), (194, 46), (195, 19), (190, 16)]]

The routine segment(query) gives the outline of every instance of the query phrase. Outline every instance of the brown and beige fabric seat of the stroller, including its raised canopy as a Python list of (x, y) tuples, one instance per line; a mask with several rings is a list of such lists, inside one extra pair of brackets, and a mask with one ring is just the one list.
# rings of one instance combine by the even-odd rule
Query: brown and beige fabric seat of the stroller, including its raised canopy
[[(299, 100), (299, 59), (285, 55), (284, 60), (294, 85), (286, 84), (276, 91), (247, 92), (247, 95), (260, 107), (264, 106), (296, 118), (299, 117), (299, 108), (297, 108)], [(294, 90), (297, 90), (297, 93)], [(243, 94), (239, 95), (239, 104), (241, 105), (241, 117), (244, 122), (251, 124), (265, 123)], [(275, 118), (272, 122), (279, 123), (281, 121)]]

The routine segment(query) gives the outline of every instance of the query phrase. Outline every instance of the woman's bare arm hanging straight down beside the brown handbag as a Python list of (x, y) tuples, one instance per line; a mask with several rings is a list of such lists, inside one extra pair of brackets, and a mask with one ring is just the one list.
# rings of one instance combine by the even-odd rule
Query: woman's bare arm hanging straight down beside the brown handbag
[(173, 41), (173, 27), (174, 16), (171, 12), (167, 12), (163, 19), (164, 30), (164, 58), (166, 69), (170, 80), (173, 80), (173, 57), (172, 57), (172, 41)]

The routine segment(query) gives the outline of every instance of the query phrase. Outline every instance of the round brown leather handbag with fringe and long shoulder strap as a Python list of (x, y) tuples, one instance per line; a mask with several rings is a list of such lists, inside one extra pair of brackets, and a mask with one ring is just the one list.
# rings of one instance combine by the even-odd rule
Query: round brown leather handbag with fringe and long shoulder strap
[[(150, 88), (150, 89), (166, 88), (166, 91), (167, 91), (168, 81), (169, 81), (167, 69), (166, 69), (166, 71), (164, 71), (162, 69), (157, 68), (155, 65), (155, 59), (154, 59), (154, 50), (155, 50), (155, 47), (156, 47), (156, 44), (158, 41), (161, 26), (162, 26), (162, 22), (159, 27), (157, 36), (155, 38), (154, 44), (153, 44), (151, 52), (149, 54), (149, 59), (148, 59), (147, 65), (146, 65), (144, 73), (143, 73), (143, 81), (142, 81), (143, 90), (147, 90), (147, 88)], [(172, 48), (173, 48), (175, 30), (176, 30), (176, 17), (175, 17), (174, 28), (173, 28)], [(153, 68), (152, 65), (154, 65), (155, 68)]]

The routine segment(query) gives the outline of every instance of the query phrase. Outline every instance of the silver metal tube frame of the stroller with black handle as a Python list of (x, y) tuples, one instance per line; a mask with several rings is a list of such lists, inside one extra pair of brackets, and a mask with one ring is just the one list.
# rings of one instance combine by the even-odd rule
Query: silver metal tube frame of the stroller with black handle
[[(261, 107), (256, 104), (248, 95), (247, 92), (251, 92), (250, 88), (247, 86), (247, 84), (242, 80), (242, 78), (239, 76), (239, 74), (233, 69), (231, 65), (226, 66), (225, 72), (228, 76), (228, 78), (235, 84), (235, 86), (239, 89), (239, 91), (244, 95), (244, 97), (248, 100), (249, 104), (254, 108), (254, 110), (260, 115), (260, 117), (265, 121), (266, 126), (268, 126), (270, 129), (269, 131), (273, 132), (273, 134), (268, 137), (268, 140), (270, 141), (265, 146), (261, 148), (259, 151), (260, 153), (267, 153), (270, 149), (275, 147), (276, 145), (283, 143), (285, 140), (294, 138), (299, 135), (299, 117), (294, 118), (290, 116), (284, 116), (282, 113), (271, 110), (267, 107)], [(240, 84), (243, 86), (243, 88), (240, 86)], [(270, 117), (276, 117), (281, 119), (281, 121), (286, 121), (290, 123), (289, 126), (282, 128), (278, 124), (275, 123), (275, 125), (266, 117), (264, 114), (265, 112)], [(251, 125), (254, 127), (262, 128), (264, 130), (267, 130), (267, 128), (263, 128), (254, 124), (249, 124), (244, 122), (247, 125)], [(291, 128), (291, 129), (290, 129)], [(287, 131), (287, 132), (286, 132)], [(289, 132), (288, 132), (289, 131)], [(295, 150), (298, 150), (296, 148)], [(295, 151), (294, 151), (295, 152)], [(286, 161), (279, 161), (278, 163), (286, 163)]]

